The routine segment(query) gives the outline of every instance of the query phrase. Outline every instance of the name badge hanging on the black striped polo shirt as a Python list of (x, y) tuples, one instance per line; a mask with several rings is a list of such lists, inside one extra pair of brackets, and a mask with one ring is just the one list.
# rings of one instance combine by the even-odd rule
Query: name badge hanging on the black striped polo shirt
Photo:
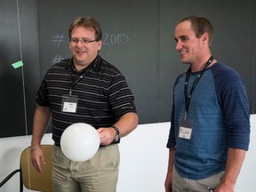
[(77, 95), (63, 95), (62, 96), (62, 112), (76, 113), (78, 103)]

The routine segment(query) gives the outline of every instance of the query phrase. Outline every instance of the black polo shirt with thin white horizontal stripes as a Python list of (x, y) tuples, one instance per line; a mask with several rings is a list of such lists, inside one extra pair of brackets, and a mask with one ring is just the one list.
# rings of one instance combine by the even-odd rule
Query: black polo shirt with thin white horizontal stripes
[[(77, 100), (76, 112), (63, 112), (63, 100), (70, 91)], [(57, 146), (70, 124), (86, 123), (97, 129), (115, 124), (126, 113), (136, 113), (124, 76), (100, 55), (82, 71), (76, 70), (72, 58), (52, 65), (38, 89), (36, 104), (52, 109), (52, 139)]]

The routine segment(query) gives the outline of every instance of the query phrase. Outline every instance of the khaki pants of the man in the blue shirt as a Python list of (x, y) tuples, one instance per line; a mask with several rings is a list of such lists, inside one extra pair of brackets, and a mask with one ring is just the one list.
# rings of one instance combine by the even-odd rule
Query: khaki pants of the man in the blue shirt
[(188, 180), (180, 177), (173, 166), (172, 192), (207, 192), (208, 187), (216, 188), (220, 184), (224, 172), (219, 172), (204, 180)]

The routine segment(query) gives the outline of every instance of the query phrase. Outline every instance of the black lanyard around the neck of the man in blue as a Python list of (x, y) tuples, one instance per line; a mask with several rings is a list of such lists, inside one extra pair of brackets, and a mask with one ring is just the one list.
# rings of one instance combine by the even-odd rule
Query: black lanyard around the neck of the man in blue
[(205, 69), (212, 63), (213, 57), (211, 56), (211, 58), (209, 60), (207, 60), (207, 62), (205, 63), (204, 69), (200, 72), (200, 74), (198, 76), (196, 76), (196, 79), (192, 85), (192, 88), (189, 92), (188, 95), (188, 81), (189, 81), (189, 76), (191, 73), (191, 66), (188, 68), (187, 74), (186, 74), (186, 82), (184, 85), (184, 96), (185, 96), (185, 116), (184, 119), (187, 120), (188, 118), (188, 108), (189, 108), (189, 104), (190, 104), (190, 100), (191, 100), (191, 96), (192, 93), (196, 87), (196, 84), (199, 82), (200, 78), (203, 76)]

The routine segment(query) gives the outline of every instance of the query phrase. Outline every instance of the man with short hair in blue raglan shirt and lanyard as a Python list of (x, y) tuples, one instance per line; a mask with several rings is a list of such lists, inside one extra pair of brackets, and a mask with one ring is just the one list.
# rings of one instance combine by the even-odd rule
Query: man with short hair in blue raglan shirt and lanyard
[(165, 191), (233, 192), (250, 140), (244, 81), (212, 57), (213, 28), (202, 16), (180, 20), (176, 50), (188, 71), (173, 87)]

